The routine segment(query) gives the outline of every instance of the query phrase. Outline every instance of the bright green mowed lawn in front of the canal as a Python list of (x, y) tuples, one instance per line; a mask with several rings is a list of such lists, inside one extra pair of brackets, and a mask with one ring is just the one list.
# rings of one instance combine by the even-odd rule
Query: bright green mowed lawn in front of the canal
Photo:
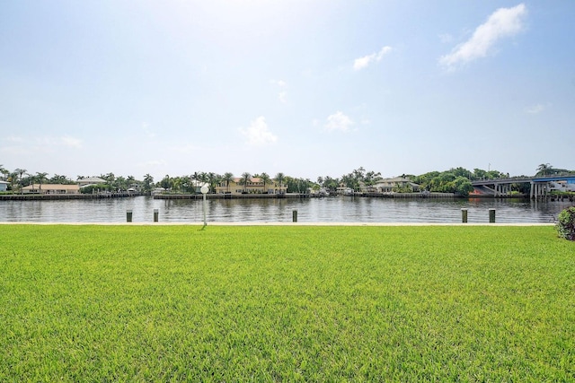
[(0, 381), (573, 381), (553, 227), (0, 225)]

